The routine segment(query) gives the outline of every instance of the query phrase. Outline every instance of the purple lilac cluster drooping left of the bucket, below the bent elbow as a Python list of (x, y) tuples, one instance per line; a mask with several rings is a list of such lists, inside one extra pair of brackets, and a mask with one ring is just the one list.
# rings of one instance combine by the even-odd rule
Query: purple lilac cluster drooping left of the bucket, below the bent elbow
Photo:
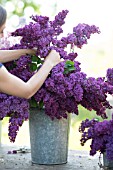
[(22, 126), (24, 120), (28, 120), (28, 108), (27, 100), (0, 94), (0, 120), (10, 117), (8, 133), (10, 141), (15, 141), (19, 126)]

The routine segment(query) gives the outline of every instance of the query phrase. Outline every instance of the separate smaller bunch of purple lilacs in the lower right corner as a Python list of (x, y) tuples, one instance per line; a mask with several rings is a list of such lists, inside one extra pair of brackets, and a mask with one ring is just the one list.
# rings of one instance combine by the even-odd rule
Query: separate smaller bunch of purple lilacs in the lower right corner
[(82, 146), (91, 139), (90, 155), (95, 155), (97, 151), (106, 152), (107, 159), (113, 160), (113, 119), (103, 122), (86, 119), (82, 121), (79, 132), (82, 133)]

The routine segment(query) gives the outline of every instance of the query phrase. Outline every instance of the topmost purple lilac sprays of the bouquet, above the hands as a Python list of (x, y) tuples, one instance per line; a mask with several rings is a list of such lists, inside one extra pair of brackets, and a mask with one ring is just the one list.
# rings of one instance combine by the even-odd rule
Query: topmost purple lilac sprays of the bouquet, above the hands
[[(62, 25), (65, 24), (65, 17), (68, 10), (63, 10), (55, 16), (54, 21), (49, 21), (49, 17), (32, 16), (34, 22), (25, 25), (23, 28), (17, 29), (12, 36), (21, 36), (18, 48), (37, 48), (37, 56), (46, 57), (51, 49), (56, 49), (62, 58), (75, 59), (77, 53), (67, 54), (65, 48), (71, 45), (71, 48), (77, 46), (81, 48), (87, 44), (87, 40), (91, 34), (100, 33), (99, 28), (88, 24), (78, 24), (73, 28), (73, 32), (66, 37), (58, 39), (58, 35), (63, 33)], [(32, 34), (32, 36), (31, 36)]]

